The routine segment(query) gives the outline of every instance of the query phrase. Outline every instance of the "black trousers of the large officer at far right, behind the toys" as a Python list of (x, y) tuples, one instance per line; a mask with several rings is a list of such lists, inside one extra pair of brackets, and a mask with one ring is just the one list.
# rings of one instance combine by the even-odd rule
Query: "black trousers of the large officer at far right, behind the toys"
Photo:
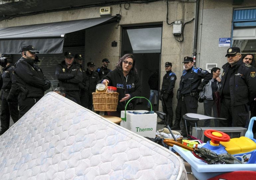
[(249, 118), (247, 104), (231, 106), (231, 100), (221, 99), (220, 117), (227, 120), (219, 120), (220, 127), (244, 127)]

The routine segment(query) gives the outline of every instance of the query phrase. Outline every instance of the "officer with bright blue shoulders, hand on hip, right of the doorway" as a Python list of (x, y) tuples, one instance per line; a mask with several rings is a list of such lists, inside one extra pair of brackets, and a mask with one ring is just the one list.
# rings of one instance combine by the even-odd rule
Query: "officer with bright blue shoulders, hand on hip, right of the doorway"
[[(185, 57), (183, 63), (185, 70), (183, 70), (180, 88), (177, 91), (177, 98), (182, 98), (182, 116), (186, 113), (197, 113), (198, 92), (202, 91), (205, 84), (212, 78), (207, 70), (193, 67), (193, 58)], [(186, 137), (190, 133), (190, 123), (187, 123), (188, 134), (184, 119), (183, 124), (182, 135)], [(194, 123), (191, 123), (191, 125), (194, 125)]]

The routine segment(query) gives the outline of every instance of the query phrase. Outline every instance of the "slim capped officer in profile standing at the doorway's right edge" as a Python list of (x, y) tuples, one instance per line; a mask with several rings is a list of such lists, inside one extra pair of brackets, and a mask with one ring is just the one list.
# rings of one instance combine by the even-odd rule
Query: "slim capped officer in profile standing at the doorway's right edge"
[[(172, 63), (165, 63), (166, 74), (163, 77), (162, 83), (162, 100), (163, 112), (167, 114), (167, 122), (170, 127), (173, 126), (173, 88), (177, 79), (176, 74), (172, 71)], [(158, 124), (164, 124), (163, 121)]]

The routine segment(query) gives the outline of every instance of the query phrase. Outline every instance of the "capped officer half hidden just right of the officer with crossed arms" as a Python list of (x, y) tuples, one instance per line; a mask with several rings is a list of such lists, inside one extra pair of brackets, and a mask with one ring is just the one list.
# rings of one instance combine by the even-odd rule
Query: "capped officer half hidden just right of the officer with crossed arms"
[(75, 62), (80, 68), (82, 69), (82, 74), (83, 74), (83, 80), (81, 83), (78, 84), (80, 88), (80, 101), (81, 105), (86, 108), (86, 98), (88, 94), (88, 89), (89, 89), (89, 77), (86, 75), (85, 69), (82, 66), (83, 63), (83, 56), (82, 54), (75, 54)]

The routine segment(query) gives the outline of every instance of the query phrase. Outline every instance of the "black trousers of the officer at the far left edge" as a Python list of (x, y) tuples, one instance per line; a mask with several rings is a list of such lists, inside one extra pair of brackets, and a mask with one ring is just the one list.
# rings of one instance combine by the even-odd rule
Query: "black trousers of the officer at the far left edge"
[(10, 115), (14, 123), (19, 120), (18, 102), (8, 103), (6, 96), (3, 94), (2, 103), (1, 103), (1, 115), (0, 115), (1, 129), (4, 129), (4, 130), (9, 129)]

